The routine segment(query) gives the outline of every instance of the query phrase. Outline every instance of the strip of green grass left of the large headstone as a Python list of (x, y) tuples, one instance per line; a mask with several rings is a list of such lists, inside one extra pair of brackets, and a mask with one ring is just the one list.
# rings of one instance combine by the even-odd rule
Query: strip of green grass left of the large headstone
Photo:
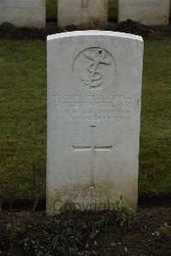
[(44, 193), (45, 66), (44, 42), (0, 41), (0, 190), (4, 197), (8, 188), (16, 198), (32, 198), (33, 168), (39, 192)]

